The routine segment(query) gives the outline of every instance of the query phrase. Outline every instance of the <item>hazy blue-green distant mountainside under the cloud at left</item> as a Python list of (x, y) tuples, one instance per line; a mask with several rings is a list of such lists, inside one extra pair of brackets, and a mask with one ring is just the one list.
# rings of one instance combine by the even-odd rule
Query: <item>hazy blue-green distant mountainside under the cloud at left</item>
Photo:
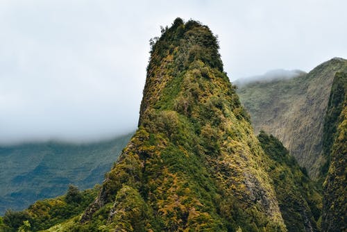
[(0, 147), (0, 215), (64, 194), (69, 183), (92, 188), (133, 133), (87, 144), (41, 142)]

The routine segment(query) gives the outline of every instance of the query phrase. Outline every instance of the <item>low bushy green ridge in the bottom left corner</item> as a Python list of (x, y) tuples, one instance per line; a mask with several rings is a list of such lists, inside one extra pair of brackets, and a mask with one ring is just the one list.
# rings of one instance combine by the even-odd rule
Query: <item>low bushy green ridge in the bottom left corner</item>
[(0, 231), (40, 231), (54, 224), (64, 222), (83, 213), (83, 210), (95, 199), (99, 187), (80, 192), (69, 185), (67, 193), (56, 199), (36, 201), (23, 211), (7, 210), (0, 221)]

